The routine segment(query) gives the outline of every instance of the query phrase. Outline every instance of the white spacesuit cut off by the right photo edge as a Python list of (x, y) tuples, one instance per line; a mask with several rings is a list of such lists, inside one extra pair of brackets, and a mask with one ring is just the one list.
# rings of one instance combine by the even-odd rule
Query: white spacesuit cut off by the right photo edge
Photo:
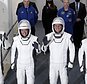
[(85, 54), (85, 84), (87, 84), (87, 38), (82, 40), (82, 44), (81, 47), (79, 49), (79, 53), (78, 53), (78, 60), (79, 60), (79, 66), (80, 66), (80, 72), (83, 72), (83, 68), (84, 68), (84, 63), (83, 63), (83, 56)]

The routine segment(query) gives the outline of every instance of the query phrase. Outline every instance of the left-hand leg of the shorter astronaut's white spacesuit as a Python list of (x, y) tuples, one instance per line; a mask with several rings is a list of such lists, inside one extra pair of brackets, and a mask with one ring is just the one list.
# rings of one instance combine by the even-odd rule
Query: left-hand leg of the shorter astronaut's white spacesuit
[(17, 84), (25, 84), (25, 70), (17, 68)]

